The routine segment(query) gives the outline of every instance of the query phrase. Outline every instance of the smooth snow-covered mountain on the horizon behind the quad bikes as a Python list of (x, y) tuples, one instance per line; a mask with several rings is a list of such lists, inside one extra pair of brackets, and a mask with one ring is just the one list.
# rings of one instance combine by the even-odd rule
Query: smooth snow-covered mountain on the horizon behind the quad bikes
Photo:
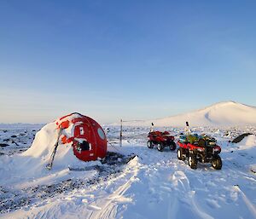
[(256, 125), (256, 107), (250, 107), (235, 101), (224, 101), (213, 104), (194, 112), (177, 116), (141, 120), (125, 123), (131, 126), (184, 126), (189, 121), (191, 126), (226, 126), (226, 125)]

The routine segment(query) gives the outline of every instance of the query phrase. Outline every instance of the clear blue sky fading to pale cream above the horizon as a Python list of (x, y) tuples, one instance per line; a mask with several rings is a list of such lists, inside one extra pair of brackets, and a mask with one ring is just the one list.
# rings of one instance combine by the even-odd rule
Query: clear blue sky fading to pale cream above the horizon
[(256, 106), (255, 1), (0, 1), (0, 123)]

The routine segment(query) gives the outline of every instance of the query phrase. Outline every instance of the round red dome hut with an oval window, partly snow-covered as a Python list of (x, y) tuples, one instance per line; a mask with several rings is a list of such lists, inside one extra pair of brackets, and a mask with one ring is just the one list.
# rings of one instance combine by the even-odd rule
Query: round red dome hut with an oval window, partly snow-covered
[(72, 143), (77, 158), (90, 161), (106, 157), (107, 138), (94, 119), (73, 112), (58, 119), (56, 125), (61, 129), (61, 143)]

